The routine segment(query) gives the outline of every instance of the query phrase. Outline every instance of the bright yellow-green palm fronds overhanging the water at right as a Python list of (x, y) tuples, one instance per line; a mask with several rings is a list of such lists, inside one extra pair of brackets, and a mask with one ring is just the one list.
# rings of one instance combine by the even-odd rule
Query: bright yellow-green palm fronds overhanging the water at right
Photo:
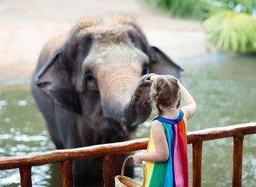
[(217, 48), (239, 53), (256, 52), (256, 20), (231, 10), (211, 12), (203, 22), (206, 34)]

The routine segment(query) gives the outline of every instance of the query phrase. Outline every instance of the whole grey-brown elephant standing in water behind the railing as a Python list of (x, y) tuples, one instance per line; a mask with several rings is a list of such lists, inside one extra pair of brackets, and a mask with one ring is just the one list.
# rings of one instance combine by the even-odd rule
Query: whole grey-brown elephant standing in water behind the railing
[[(179, 78), (183, 71), (148, 44), (133, 18), (89, 17), (45, 44), (31, 91), (56, 148), (80, 148), (134, 139), (151, 115), (151, 73)], [(99, 158), (74, 161), (75, 186), (102, 180), (101, 164)], [(127, 170), (132, 176), (132, 164)]]

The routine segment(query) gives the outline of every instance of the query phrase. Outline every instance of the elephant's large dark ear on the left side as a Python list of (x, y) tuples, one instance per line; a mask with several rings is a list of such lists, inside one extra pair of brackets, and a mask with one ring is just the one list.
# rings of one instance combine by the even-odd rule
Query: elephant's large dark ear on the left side
[(56, 104), (82, 114), (78, 93), (64, 64), (67, 64), (67, 58), (64, 58), (61, 50), (56, 50), (35, 75), (35, 83)]

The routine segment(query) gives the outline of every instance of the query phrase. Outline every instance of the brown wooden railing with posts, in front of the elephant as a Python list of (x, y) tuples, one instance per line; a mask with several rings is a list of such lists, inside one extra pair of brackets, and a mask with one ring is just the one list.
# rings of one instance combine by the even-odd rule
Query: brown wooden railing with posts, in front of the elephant
[[(188, 144), (192, 144), (193, 182), (192, 186), (201, 186), (201, 166), (203, 142), (233, 137), (233, 186), (241, 186), (243, 140), (244, 135), (256, 134), (256, 123), (244, 123), (187, 133)], [(105, 145), (94, 145), (85, 148), (53, 150), (46, 153), (34, 153), (28, 156), (10, 156), (0, 159), (0, 170), (20, 169), (20, 186), (29, 187), (31, 183), (31, 167), (61, 162), (63, 186), (73, 186), (72, 161), (75, 159), (91, 159), (102, 157), (104, 186), (114, 186), (117, 175), (118, 154), (130, 153), (147, 148), (148, 138), (117, 142)]]

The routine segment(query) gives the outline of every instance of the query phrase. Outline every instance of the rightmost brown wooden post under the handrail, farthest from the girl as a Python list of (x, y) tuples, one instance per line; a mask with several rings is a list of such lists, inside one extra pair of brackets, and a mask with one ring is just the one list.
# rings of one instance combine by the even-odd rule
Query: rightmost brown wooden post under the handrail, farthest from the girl
[(233, 139), (233, 185), (242, 186), (242, 165), (243, 165), (243, 142), (244, 135), (238, 135)]

